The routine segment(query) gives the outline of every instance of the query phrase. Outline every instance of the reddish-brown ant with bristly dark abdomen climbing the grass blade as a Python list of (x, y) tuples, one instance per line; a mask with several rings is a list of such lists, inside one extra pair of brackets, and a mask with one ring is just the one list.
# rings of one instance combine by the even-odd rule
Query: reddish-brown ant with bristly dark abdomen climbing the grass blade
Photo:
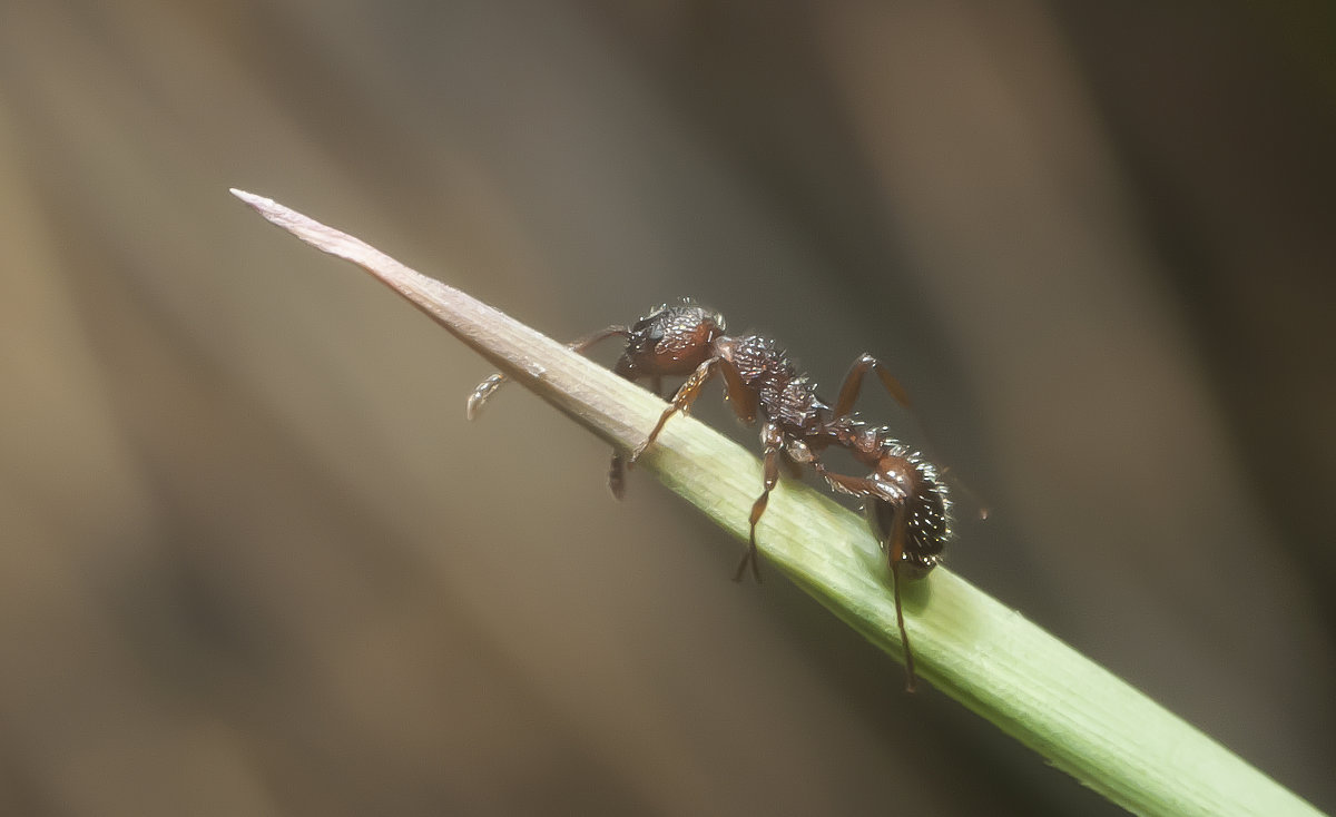
[[(815, 384), (798, 372), (774, 340), (724, 332), (720, 314), (683, 300), (652, 310), (631, 327), (611, 326), (570, 344), (572, 350), (584, 352), (605, 338), (625, 338), (625, 350), (613, 371), (629, 380), (648, 378), (656, 395), (661, 391), (664, 376), (687, 375), (649, 437), (632, 451), (629, 459), (621, 451), (613, 453), (609, 469), (613, 495), (621, 497), (625, 469), (635, 466), (669, 418), (679, 411), (688, 414), (705, 384), (721, 375), (725, 399), (733, 413), (747, 423), (754, 423), (758, 417), (762, 419), (760, 439), (764, 446), (763, 490), (752, 503), (748, 545), (733, 581), (741, 579), (748, 565), (760, 581), (756, 523), (779, 482), (780, 462), (794, 471), (811, 465), (832, 490), (864, 502), (868, 523), (891, 569), (895, 618), (900, 643), (904, 645), (907, 686), (912, 692), (914, 655), (900, 609), (900, 573), (922, 578), (937, 566), (950, 537), (950, 498), (930, 462), (894, 439), (886, 426), (870, 426), (854, 413), (863, 379), (870, 372), (907, 408), (910, 402), (904, 388), (876, 358), (863, 354), (844, 376), (831, 407), (816, 395)], [(470, 419), (505, 380), (505, 375), (494, 374), (478, 384), (469, 395)], [(827, 470), (819, 457), (830, 447), (844, 449), (871, 469), (871, 474), (850, 477)]]

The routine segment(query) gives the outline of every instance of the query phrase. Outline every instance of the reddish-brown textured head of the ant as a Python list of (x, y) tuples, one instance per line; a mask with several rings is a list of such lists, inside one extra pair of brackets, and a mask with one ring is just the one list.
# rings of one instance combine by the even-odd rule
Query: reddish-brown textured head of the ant
[(688, 375), (715, 356), (724, 316), (684, 299), (664, 304), (631, 327), (624, 366), (644, 376)]

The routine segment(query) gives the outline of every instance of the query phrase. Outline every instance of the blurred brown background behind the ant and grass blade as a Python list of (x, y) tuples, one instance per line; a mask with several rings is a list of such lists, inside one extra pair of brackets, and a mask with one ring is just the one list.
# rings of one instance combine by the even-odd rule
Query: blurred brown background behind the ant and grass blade
[(0, 4), (0, 813), (1117, 813), (230, 186), (882, 356), (954, 570), (1336, 808), (1336, 15), (1153, 5)]

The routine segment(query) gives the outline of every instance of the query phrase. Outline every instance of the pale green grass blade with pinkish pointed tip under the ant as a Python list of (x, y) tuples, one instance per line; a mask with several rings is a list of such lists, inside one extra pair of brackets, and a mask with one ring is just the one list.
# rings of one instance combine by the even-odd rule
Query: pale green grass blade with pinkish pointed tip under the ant
[[(501, 371), (593, 430), (633, 447), (663, 403), (565, 346), (347, 234), (234, 190), (263, 218), (362, 267)], [(647, 470), (739, 539), (762, 481), (755, 457), (679, 418)], [(758, 531), (795, 583), (887, 653), (902, 657), (888, 571), (863, 521), (802, 485), (782, 483)], [(1141, 814), (1317, 814), (1150, 698), (938, 567), (904, 593), (919, 675), (1113, 802)], [(888, 685), (898, 686), (899, 677)]]

